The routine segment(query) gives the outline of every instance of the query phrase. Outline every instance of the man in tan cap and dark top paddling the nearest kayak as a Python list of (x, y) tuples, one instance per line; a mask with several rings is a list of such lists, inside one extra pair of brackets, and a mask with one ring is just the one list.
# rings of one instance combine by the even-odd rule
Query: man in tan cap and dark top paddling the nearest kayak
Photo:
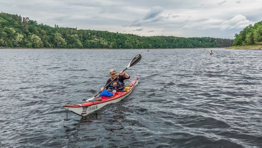
[[(111, 78), (107, 80), (106, 85), (110, 83), (117, 76), (117, 72), (115, 69), (111, 69), (109, 71), (109, 74)], [(129, 78), (130, 76), (127, 73), (120, 71), (119, 77), (116, 78), (108, 87), (110, 87), (110, 90), (123, 90), (124, 89), (124, 80), (129, 79)], [(108, 87), (106, 87), (106, 89), (108, 89)], [(101, 91), (103, 91), (104, 89), (105, 88), (102, 87)]]

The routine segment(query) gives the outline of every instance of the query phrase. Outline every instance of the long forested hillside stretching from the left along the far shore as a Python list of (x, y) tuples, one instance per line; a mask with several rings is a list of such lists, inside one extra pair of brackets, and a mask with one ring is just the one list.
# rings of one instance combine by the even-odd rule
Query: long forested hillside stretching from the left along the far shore
[(233, 39), (211, 37), (138, 36), (38, 24), (28, 17), (1, 12), (0, 47), (26, 48), (208, 48), (229, 47)]

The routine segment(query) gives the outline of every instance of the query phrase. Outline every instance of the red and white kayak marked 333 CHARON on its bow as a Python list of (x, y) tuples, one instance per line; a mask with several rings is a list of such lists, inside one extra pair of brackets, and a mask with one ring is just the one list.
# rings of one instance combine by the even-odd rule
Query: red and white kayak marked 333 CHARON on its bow
[(126, 85), (125, 89), (122, 91), (116, 91), (116, 93), (113, 93), (113, 91), (110, 91), (113, 93), (113, 96), (100, 96), (97, 98), (94, 98), (92, 100), (87, 100), (88, 102), (82, 103), (82, 104), (75, 104), (75, 105), (63, 105), (64, 108), (67, 111), (73, 112), (79, 116), (86, 116), (96, 110), (101, 109), (103, 106), (111, 103), (116, 103), (118, 101), (121, 101), (123, 98), (128, 96), (134, 89), (135, 85), (138, 84), (138, 77), (135, 78), (134, 81)]

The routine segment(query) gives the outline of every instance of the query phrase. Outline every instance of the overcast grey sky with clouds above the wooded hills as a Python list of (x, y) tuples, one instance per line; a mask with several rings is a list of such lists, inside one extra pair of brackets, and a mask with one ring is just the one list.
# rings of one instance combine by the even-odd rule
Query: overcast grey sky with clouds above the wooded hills
[(52, 27), (234, 39), (262, 21), (262, 0), (0, 0), (0, 11)]

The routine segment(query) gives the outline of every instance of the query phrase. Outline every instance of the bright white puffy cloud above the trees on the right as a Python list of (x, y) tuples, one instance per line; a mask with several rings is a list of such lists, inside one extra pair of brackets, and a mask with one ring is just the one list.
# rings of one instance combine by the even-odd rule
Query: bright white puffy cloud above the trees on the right
[(255, 22), (252, 22), (250, 20), (247, 20), (247, 17), (243, 15), (236, 15), (230, 20), (224, 21), (221, 25), (206, 25), (202, 28), (198, 28), (200, 30), (206, 30), (206, 29), (214, 29), (219, 28), (220, 30), (224, 31), (226, 29), (239, 29), (244, 28), (248, 26), (249, 24), (255, 24)]

